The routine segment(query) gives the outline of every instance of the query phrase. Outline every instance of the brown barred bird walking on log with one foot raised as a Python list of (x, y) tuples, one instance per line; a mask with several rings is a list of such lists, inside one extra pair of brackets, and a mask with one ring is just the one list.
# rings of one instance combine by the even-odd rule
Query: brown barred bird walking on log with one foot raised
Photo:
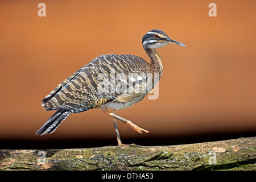
[(141, 101), (158, 83), (163, 64), (156, 49), (168, 44), (185, 47), (183, 43), (170, 39), (162, 30), (154, 29), (142, 37), (142, 45), (150, 62), (135, 55), (112, 53), (100, 55), (78, 69), (44, 97), (44, 110), (57, 111), (36, 135), (53, 133), (69, 115), (89, 109), (101, 109), (112, 117), (118, 146), (127, 144), (121, 141), (117, 119), (138, 133), (148, 133), (130, 120), (115, 114), (115, 111)]

